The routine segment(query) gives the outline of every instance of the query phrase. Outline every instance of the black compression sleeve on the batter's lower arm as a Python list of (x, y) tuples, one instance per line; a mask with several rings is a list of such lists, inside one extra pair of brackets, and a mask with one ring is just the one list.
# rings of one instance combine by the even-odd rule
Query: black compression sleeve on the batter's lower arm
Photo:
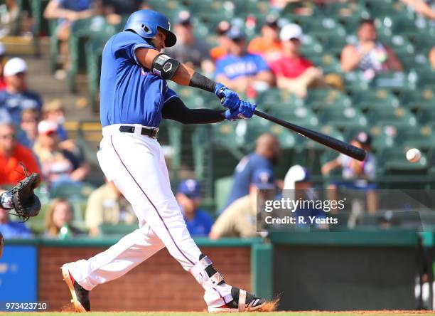
[(163, 118), (183, 124), (216, 123), (225, 120), (225, 110), (189, 109), (180, 98), (171, 98), (163, 105)]

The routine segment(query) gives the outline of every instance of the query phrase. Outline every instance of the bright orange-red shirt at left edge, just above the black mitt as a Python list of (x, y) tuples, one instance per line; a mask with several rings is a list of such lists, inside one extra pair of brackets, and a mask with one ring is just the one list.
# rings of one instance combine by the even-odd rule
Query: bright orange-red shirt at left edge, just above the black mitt
[(32, 172), (41, 174), (38, 162), (31, 150), (22, 144), (16, 144), (14, 154), (9, 159), (6, 159), (0, 152), (0, 185), (15, 185), (26, 177), (23, 175), (20, 162), (28, 169), (29, 174)]

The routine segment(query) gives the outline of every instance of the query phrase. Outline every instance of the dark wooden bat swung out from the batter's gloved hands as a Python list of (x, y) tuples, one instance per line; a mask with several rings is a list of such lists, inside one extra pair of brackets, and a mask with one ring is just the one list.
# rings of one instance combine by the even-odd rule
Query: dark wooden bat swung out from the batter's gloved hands
[(297, 132), (302, 136), (308, 137), (309, 139), (312, 139), (314, 142), (319, 142), (325, 145), (326, 147), (335, 149), (337, 152), (341, 152), (342, 154), (357, 159), (360, 162), (363, 162), (365, 157), (367, 156), (367, 152), (365, 152), (364, 149), (355, 147), (351, 144), (348, 144), (347, 142), (343, 142), (340, 139), (336, 139), (334, 137), (322, 134), (320, 132), (309, 130), (308, 128), (301, 127), (299, 125), (291, 124), (284, 120), (280, 120), (279, 118), (273, 117), (272, 115), (268, 115), (264, 112), (255, 110), (254, 114), (264, 118), (265, 120), (269, 120), (278, 125), (281, 125), (282, 127), (286, 127), (289, 130)]

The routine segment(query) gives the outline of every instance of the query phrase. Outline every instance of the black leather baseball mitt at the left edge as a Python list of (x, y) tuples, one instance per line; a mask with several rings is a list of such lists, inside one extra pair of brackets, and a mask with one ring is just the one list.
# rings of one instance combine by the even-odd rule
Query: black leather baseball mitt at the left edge
[(41, 210), (41, 201), (33, 193), (33, 189), (36, 189), (39, 184), (41, 184), (39, 174), (33, 172), (33, 174), (28, 175), (26, 172), (26, 179), (19, 181), (14, 188), (1, 194), (1, 207), (14, 209), (16, 214), (10, 214), (19, 216), (22, 221), (27, 221), (28, 218), (38, 215)]

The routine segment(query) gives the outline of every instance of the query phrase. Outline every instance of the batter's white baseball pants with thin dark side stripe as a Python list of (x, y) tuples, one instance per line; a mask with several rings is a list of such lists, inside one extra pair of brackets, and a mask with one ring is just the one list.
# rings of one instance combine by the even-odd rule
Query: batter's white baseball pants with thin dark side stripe
[[(119, 278), (163, 247), (188, 271), (198, 263), (201, 254), (171, 191), (159, 142), (140, 135), (141, 125), (134, 125), (139, 127), (134, 134), (119, 132), (119, 126), (103, 128), (97, 157), (107, 179), (114, 181), (133, 206), (139, 229), (107, 251), (68, 265), (73, 278), (86, 290)], [(204, 288), (204, 299), (210, 307), (232, 300), (230, 285)]]

